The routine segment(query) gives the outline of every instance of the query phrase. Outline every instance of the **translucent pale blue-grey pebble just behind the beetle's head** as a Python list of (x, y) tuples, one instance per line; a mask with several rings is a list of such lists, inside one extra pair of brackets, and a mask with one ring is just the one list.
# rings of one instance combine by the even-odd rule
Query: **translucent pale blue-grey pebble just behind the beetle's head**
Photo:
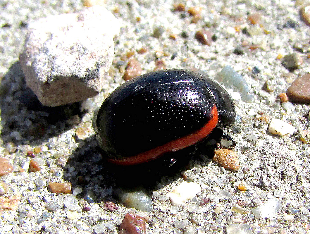
[(241, 99), (245, 102), (254, 102), (254, 96), (246, 80), (238, 74), (231, 66), (224, 67), (215, 77), (217, 81), (227, 87), (232, 87), (234, 91), (239, 92)]

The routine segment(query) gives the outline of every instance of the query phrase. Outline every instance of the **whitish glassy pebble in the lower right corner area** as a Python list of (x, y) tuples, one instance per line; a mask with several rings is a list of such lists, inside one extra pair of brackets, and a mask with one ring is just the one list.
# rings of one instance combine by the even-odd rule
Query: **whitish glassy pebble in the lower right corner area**
[(262, 205), (251, 209), (256, 218), (272, 218), (280, 209), (281, 201), (277, 198), (268, 199)]

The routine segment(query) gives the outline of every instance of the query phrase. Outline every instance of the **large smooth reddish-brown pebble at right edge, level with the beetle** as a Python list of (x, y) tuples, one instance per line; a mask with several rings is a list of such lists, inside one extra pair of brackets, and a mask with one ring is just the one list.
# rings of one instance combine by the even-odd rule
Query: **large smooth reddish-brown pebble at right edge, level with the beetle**
[(290, 101), (310, 103), (310, 74), (305, 74), (294, 80), (286, 94)]

